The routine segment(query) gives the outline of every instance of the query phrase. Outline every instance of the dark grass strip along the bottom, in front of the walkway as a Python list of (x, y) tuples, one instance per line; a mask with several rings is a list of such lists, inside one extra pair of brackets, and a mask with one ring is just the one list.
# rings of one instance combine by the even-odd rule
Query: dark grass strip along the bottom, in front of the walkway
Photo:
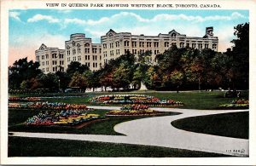
[(157, 146), (9, 137), (9, 157), (226, 157)]

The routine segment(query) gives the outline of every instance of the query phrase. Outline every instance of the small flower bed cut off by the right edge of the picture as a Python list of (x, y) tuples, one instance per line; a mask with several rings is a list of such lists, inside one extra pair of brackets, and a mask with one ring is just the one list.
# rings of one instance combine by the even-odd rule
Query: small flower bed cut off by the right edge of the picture
[(230, 104), (224, 104), (218, 106), (221, 109), (248, 109), (249, 108), (249, 100), (233, 100)]

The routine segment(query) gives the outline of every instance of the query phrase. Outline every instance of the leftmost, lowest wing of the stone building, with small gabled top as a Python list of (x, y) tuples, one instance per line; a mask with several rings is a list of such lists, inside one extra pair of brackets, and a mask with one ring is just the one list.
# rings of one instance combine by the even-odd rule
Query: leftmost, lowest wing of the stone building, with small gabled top
[(65, 49), (48, 48), (44, 43), (36, 50), (36, 60), (44, 73), (64, 72), (66, 66)]

